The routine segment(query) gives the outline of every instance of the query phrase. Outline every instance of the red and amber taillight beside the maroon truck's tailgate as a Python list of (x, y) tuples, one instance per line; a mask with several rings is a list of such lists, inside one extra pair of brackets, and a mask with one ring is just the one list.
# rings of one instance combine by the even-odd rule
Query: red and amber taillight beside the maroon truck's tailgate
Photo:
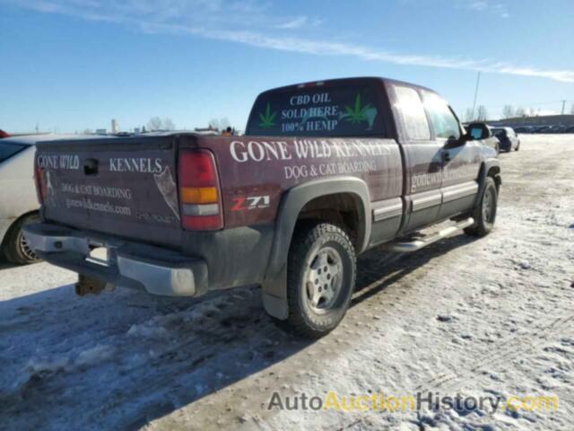
[(213, 154), (182, 150), (178, 163), (181, 225), (191, 231), (223, 227), (222, 198)]

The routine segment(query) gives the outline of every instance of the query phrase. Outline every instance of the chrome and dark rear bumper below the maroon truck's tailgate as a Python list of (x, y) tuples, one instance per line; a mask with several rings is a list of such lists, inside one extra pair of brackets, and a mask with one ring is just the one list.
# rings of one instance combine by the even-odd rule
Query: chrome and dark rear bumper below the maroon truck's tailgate
[[(40, 258), (116, 286), (170, 296), (202, 295), (208, 288), (205, 261), (177, 251), (58, 224), (29, 224), (24, 228), (24, 235)], [(100, 247), (108, 251), (105, 261), (90, 255), (93, 249)]]

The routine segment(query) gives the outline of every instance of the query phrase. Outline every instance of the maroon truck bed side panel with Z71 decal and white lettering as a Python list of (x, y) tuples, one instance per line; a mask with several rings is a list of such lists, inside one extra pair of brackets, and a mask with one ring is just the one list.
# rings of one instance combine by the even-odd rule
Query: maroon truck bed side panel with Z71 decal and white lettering
[(216, 154), (226, 228), (273, 222), (285, 190), (319, 178), (360, 178), (371, 202), (402, 193), (403, 164), (393, 139), (204, 136), (196, 145)]

